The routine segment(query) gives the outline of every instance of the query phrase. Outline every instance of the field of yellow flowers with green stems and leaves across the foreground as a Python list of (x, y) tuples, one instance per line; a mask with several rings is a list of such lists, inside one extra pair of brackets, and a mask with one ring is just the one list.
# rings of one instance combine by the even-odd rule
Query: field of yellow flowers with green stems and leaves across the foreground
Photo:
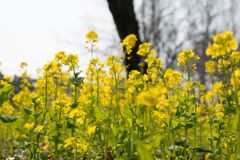
[(78, 55), (60, 51), (39, 70), (33, 91), (26, 63), (19, 93), (10, 76), (1, 79), (0, 159), (240, 159), (240, 53), (232, 32), (209, 43), (206, 86), (193, 78), (200, 57), (192, 50), (179, 53), (179, 70), (163, 70), (143, 43), (137, 54), (146, 57), (147, 74), (140, 63), (126, 77), (123, 59), (135, 35), (121, 43), (122, 58), (106, 62), (94, 58), (97, 33), (86, 38), (92, 59), (85, 77)]

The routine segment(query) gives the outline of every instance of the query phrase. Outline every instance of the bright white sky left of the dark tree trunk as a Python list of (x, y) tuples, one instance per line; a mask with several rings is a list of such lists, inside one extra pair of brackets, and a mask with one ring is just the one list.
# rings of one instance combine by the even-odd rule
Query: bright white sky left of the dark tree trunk
[[(99, 36), (95, 56), (105, 61), (102, 54), (117, 53), (119, 38), (106, 0), (0, 0), (0, 71), (20, 75), (26, 62), (28, 74), (37, 78), (36, 69), (58, 51), (78, 54), (85, 70), (90, 60), (85, 35), (91, 30)], [(112, 44), (119, 48), (107, 48)]]

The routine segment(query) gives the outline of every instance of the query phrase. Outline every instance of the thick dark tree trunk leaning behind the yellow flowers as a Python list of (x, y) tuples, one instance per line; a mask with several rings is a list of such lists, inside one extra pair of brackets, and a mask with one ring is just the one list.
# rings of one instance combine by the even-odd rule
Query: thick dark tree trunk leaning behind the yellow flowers
[[(127, 57), (131, 57), (131, 59), (128, 60), (126, 57), (126, 59), (124, 60), (127, 75), (131, 70), (140, 71), (138, 64), (140, 62), (143, 62), (144, 58), (136, 54), (139, 48), (139, 44), (141, 44), (141, 40), (138, 32), (139, 31), (138, 22), (136, 20), (136, 16), (134, 13), (133, 0), (107, 0), (107, 1), (121, 41), (129, 34), (135, 34), (138, 39), (138, 41), (136, 42), (136, 46), (132, 49), (132, 53), (130, 55), (127, 55)], [(145, 64), (143, 72), (146, 73), (146, 71), (147, 65)]]

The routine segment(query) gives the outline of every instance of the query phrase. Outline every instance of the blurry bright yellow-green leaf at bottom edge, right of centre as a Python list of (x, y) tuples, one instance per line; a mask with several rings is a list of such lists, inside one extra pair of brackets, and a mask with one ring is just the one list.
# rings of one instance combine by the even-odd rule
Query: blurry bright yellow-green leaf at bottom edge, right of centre
[(145, 144), (141, 141), (137, 142), (137, 151), (140, 157), (140, 160), (153, 160), (152, 157), (152, 146), (150, 144)]

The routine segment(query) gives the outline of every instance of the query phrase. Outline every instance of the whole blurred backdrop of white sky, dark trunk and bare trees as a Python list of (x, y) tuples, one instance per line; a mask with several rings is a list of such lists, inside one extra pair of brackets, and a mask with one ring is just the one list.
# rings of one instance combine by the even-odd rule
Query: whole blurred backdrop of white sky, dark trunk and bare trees
[[(238, 8), (239, 0), (0, 1), (1, 77), (15, 75), (18, 81), (20, 64), (26, 62), (27, 73), (36, 79), (36, 70), (58, 51), (78, 54), (85, 70), (91, 58), (85, 35), (94, 30), (99, 36), (94, 57), (102, 61), (120, 56), (120, 42), (130, 33), (138, 36), (139, 44), (152, 44), (163, 70), (176, 69), (179, 52), (192, 49), (200, 57), (197, 78), (205, 84), (205, 62), (211, 59), (205, 50), (213, 35), (233, 31), (239, 44)], [(133, 60), (142, 61), (132, 54)]]

